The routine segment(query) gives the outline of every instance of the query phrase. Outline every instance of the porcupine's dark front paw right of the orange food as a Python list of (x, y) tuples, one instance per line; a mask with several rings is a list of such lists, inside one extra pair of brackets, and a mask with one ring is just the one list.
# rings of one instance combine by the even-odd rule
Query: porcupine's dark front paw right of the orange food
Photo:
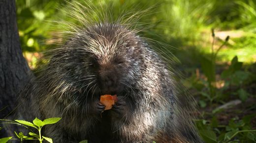
[(129, 111), (127, 102), (123, 97), (118, 98), (118, 101), (112, 106), (112, 110), (116, 112), (120, 118), (126, 116)]

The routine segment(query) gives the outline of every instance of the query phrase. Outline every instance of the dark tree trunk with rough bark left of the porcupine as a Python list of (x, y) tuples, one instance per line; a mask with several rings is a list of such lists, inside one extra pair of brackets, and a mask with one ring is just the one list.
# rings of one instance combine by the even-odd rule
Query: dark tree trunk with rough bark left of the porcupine
[(20, 46), (15, 0), (0, 0), (0, 119), (15, 108), (30, 73)]

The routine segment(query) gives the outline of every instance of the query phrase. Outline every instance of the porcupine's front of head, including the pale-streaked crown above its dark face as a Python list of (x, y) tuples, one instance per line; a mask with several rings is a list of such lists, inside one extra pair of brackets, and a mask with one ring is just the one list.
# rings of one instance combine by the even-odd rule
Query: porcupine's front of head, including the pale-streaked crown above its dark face
[(88, 51), (85, 76), (92, 77), (88, 92), (119, 95), (130, 88), (139, 65), (135, 34), (119, 25), (97, 24), (81, 35)]

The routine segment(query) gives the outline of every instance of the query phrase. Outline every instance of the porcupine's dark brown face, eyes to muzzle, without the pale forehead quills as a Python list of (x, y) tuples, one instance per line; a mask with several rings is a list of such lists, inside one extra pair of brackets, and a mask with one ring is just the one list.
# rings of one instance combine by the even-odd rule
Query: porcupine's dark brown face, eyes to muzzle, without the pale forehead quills
[(96, 75), (97, 93), (100, 95), (115, 95), (123, 91), (122, 80), (126, 78), (128, 63), (120, 54), (113, 57), (96, 55), (89, 59), (89, 71)]

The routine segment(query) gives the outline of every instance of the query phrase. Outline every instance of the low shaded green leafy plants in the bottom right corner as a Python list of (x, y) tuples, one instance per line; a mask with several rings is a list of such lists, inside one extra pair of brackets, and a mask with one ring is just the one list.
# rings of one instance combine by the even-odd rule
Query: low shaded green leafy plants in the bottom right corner
[(216, 117), (210, 121), (196, 120), (196, 125), (199, 134), (206, 143), (237, 143), (237, 141), (255, 143), (256, 130), (253, 130), (250, 125), (251, 119), (255, 116), (245, 116), (240, 120), (237, 118), (230, 119), (227, 126), (220, 125)]

